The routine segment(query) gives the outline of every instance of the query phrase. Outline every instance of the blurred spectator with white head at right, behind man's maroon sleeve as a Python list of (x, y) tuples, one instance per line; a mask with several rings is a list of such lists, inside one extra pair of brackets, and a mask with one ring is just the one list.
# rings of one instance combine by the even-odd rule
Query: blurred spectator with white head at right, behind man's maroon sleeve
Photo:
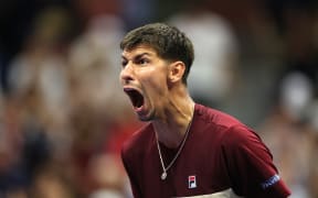
[[(316, 164), (317, 133), (308, 117), (312, 84), (299, 73), (290, 74), (278, 86), (277, 106), (264, 121), (259, 134), (273, 151), (282, 177), (295, 198), (309, 198), (309, 176)], [(311, 118), (310, 118), (311, 119)]]

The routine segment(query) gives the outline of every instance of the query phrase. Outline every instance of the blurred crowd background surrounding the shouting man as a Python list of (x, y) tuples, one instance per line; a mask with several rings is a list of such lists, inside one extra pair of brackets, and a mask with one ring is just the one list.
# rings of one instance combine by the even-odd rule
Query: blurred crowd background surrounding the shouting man
[(0, 198), (129, 198), (121, 143), (142, 123), (119, 86), (121, 36), (192, 38), (197, 102), (248, 124), (293, 198), (318, 198), (316, 0), (1, 0)]

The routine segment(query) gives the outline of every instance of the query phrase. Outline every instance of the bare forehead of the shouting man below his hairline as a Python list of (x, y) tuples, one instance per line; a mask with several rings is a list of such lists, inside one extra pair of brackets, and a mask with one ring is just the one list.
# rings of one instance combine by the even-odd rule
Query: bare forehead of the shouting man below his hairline
[(137, 45), (136, 47), (124, 50), (121, 53), (123, 58), (134, 58), (140, 55), (158, 56), (156, 50), (149, 45)]

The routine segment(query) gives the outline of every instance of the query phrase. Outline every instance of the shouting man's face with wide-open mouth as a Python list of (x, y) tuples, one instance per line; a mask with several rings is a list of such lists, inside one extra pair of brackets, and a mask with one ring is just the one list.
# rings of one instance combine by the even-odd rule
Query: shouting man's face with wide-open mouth
[(125, 50), (121, 59), (120, 82), (139, 120), (156, 119), (162, 113), (168, 97), (169, 63), (146, 45), (138, 45), (130, 51)]

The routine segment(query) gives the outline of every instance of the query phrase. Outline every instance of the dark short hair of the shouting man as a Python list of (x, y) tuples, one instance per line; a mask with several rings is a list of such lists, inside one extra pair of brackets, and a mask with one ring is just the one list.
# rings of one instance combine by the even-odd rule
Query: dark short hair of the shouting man
[(141, 44), (152, 47), (163, 59), (183, 62), (186, 72), (182, 81), (187, 85), (194, 50), (192, 42), (183, 32), (165, 23), (146, 24), (128, 32), (120, 42), (120, 48), (130, 51)]

